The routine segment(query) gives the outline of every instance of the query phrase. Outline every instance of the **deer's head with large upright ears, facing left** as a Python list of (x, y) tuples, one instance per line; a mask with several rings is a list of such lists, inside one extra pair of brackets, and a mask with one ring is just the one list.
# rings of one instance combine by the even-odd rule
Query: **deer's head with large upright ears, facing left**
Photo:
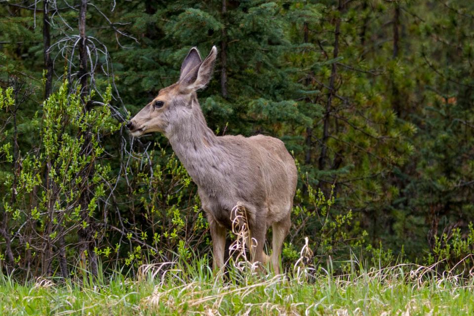
[(181, 65), (178, 82), (159, 90), (158, 96), (127, 123), (131, 134), (141, 136), (161, 132), (169, 136), (183, 117), (191, 115), (196, 90), (205, 87), (211, 79), (216, 56), (216, 46), (212, 47), (204, 61), (197, 48), (191, 48)]

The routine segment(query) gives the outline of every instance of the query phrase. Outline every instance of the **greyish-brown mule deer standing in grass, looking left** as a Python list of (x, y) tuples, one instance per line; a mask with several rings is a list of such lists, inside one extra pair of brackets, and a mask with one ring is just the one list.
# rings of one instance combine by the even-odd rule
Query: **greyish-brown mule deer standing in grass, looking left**
[[(232, 225), (231, 210), (245, 209), (252, 262), (269, 259), (279, 273), (279, 255), (288, 234), (296, 189), (296, 166), (279, 139), (216, 136), (207, 126), (196, 91), (211, 79), (217, 49), (201, 61), (193, 47), (181, 66), (178, 82), (163, 88), (158, 96), (127, 123), (133, 136), (161, 132), (197, 184), (209, 222), (214, 268), (224, 267), (226, 229)], [(264, 250), (268, 228), (273, 229), (273, 253)], [(248, 244), (248, 242), (247, 242)]]

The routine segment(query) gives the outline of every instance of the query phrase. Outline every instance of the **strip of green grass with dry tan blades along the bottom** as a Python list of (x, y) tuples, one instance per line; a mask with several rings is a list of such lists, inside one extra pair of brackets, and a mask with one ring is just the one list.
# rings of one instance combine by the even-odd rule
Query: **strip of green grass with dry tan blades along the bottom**
[[(230, 269), (213, 276), (204, 260), (143, 266), (125, 277), (0, 280), (1, 315), (474, 315), (474, 282), (397, 265), (344, 276), (299, 268), (285, 276)], [(86, 281), (84, 281), (86, 280)]]

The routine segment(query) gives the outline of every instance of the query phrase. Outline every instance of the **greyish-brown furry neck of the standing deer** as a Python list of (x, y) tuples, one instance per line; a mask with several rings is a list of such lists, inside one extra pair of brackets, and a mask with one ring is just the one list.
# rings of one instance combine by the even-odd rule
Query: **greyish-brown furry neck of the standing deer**
[(180, 118), (168, 139), (193, 181), (203, 189), (212, 186), (216, 175), (210, 170), (217, 170), (225, 153), (218, 146), (218, 137), (207, 126), (197, 99), (193, 100), (192, 111)]

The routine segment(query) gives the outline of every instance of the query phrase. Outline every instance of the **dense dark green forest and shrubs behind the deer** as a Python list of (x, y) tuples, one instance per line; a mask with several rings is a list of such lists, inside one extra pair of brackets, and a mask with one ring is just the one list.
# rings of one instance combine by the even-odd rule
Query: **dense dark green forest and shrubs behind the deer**
[(305, 237), (338, 271), (473, 253), (474, 2), (1, 0), (3, 272), (210, 254), (167, 140), (124, 123), (212, 45), (211, 129), (278, 137), (298, 163), (284, 267)]

